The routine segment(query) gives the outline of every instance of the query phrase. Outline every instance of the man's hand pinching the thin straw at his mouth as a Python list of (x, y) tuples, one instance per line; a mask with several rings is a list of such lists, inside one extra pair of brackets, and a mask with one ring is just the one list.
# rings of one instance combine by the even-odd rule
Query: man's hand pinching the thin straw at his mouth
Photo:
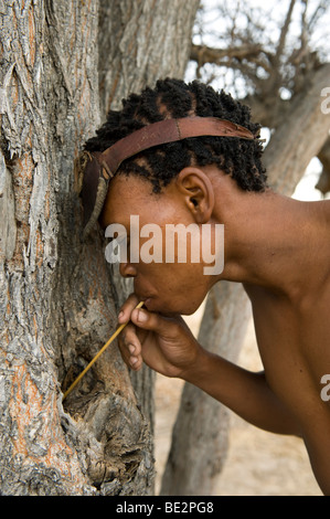
[(119, 324), (128, 322), (118, 342), (124, 361), (135, 371), (149, 368), (167, 377), (185, 378), (196, 366), (203, 349), (198, 343), (181, 316), (136, 309), (137, 297), (132, 294), (123, 305)]

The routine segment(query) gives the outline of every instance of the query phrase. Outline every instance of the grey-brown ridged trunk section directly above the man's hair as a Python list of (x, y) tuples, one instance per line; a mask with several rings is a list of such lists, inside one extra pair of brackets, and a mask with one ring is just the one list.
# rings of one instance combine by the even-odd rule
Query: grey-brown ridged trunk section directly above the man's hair
[(159, 78), (183, 77), (198, 7), (199, 0), (100, 1), (102, 114)]

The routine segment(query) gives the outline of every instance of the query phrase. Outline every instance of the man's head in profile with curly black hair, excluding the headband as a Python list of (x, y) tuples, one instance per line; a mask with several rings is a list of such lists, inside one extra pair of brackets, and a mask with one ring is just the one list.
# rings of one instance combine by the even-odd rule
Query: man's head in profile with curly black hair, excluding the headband
[[(153, 252), (156, 246), (162, 250), (161, 262), (140, 261), (141, 254), (138, 262), (132, 262), (129, 251), (128, 261), (120, 264), (121, 275), (135, 278), (137, 296), (148, 301), (151, 310), (191, 314), (219, 279), (219, 276), (204, 275), (207, 263), (204, 257), (200, 262), (190, 260), (193, 248), (190, 240), (187, 241), (188, 261), (182, 264), (175, 252), (174, 262), (168, 262), (167, 229), (182, 224), (185, 229), (193, 225), (202, 230), (207, 224), (212, 229), (209, 242), (214, 252), (216, 224), (221, 222), (216, 209), (220, 200), (215, 200), (215, 193), (221, 179), (231, 180), (241, 192), (260, 192), (266, 188), (260, 163), (262, 144), (254, 138), (259, 125), (251, 121), (246, 106), (223, 92), (217, 94), (199, 82), (187, 85), (182, 81), (164, 80), (159, 81), (155, 89), (146, 88), (141, 95), (132, 94), (124, 100), (123, 109), (110, 112), (96, 137), (85, 146), (92, 153), (105, 151), (155, 123), (182, 118), (185, 121), (185, 118), (196, 116), (230, 120), (239, 125), (237, 135), (243, 130), (247, 137), (191, 137), (134, 155), (116, 169), (103, 206), (102, 225), (119, 224), (127, 235), (128, 248), (135, 241), (131, 234), (136, 235), (131, 233), (131, 215), (139, 218), (139, 225), (145, 231), (150, 224), (160, 230), (160, 239), (153, 240), (152, 248)], [(147, 237), (147, 234), (140, 234), (140, 252), (151, 247)], [(199, 240), (202, 250), (202, 234)]]

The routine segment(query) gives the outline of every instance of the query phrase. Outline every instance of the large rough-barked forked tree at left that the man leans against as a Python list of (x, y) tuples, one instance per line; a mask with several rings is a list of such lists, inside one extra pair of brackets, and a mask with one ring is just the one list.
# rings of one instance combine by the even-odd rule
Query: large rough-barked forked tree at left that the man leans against
[(111, 345), (64, 407), (61, 389), (114, 331), (129, 289), (110, 282), (100, 232), (81, 240), (74, 158), (105, 106), (183, 74), (198, 2), (172, 3), (169, 25), (164, 0), (103, 1), (100, 23), (93, 0), (0, 3), (2, 495), (152, 492), (150, 374), (134, 391)]

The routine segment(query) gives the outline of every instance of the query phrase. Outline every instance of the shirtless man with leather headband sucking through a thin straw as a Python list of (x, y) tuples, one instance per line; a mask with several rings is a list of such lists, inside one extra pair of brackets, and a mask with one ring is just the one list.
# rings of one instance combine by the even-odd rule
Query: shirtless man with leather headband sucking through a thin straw
[[(212, 133), (214, 117), (220, 126)], [(163, 121), (177, 121), (177, 137)], [(199, 135), (199, 121), (211, 129)], [(163, 134), (155, 138), (152, 128)], [(119, 324), (131, 321), (120, 351), (134, 370), (146, 362), (198, 385), (258, 427), (302, 437), (316, 478), (330, 494), (330, 409), (320, 395), (321, 378), (330, 372), (330, 202), (300, 202), (269, 189), (258, 130), (248, 108), (223, 92), (166, 80), (110, 112), (86, 144), (89, 169), (97, 162), (106, 181), (100, 224), (120, 224), (128, 244), (131, 215), (161, 230), (210, 225), (213, 247), (216, 225), (224, 225), (224, 268), (216, 275), (206, 275), (205, 262), (189, 261), (189, 254), (185, 264), (147, 263), (130, 261), (128, 251), (120, 273), (134, 277), (135, 292), (118, 316)], [(85, 206), (89, 194), (87, 183)], [(96, 199), (88, 210), (94, 216)], [(204, 350), (180, 317), (222, 279), (242, 283), (252, 301), (260, 373)], [(136, 309), (140, 300), (145, 306)]]

